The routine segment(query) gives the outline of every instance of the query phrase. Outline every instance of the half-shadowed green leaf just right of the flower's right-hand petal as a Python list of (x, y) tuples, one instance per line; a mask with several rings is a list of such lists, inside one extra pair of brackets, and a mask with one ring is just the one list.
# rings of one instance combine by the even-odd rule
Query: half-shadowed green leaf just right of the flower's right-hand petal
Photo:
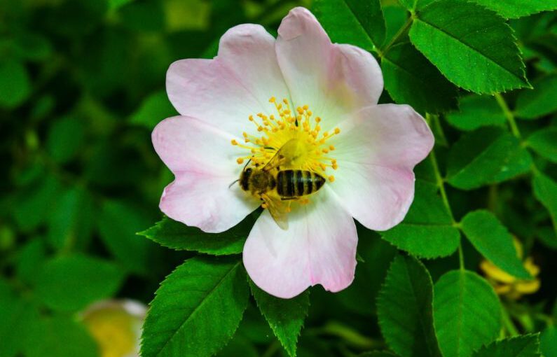
[(508, 132), (483, 127), (462, 135), (448, 153), (447, 162), (448, 183), (472, 190), (528, 172), (532, 158)]

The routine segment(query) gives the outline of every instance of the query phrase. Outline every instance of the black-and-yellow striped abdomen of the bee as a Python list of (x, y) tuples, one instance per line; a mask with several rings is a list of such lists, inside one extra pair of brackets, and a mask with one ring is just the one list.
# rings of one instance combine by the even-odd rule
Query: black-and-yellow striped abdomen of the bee
[(323, 176), (303, 170), (283, 170), (277, 174), (277, 193), (280, 197), (300, 197), (319, 190), (325, 183)]

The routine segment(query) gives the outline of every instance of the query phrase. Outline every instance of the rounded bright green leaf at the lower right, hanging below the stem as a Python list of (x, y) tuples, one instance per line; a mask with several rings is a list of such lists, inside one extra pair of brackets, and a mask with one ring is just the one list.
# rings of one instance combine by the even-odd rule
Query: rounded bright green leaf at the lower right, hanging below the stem
[(478, 274), (452, 270), (435, 283), (433, 318), (443, 356), (469, 357), (499, 335), (501, 304)]

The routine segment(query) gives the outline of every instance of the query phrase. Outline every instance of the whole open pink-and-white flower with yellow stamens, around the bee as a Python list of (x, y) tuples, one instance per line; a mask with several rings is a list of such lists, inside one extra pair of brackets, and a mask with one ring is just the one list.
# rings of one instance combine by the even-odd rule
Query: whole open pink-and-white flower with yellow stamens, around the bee
[(259, 25), (229, 29), (214, 59), (182, 59), (167, 72), (168, 97), (181, 116), (153, 131), (156, 152), (176, 176), (160, 209), (205, 232), (228, 230), (261, 205), (238, 185), (228, 187), (239, 164), (264, 162), (299, 138), (298, 169), (328, 181), (309, 204), (292, 205), (288, 230), (263, 211), (244, 265), (277, 297), (316, 284), (343, 290), (356, 267), (353, 218), (371, 230), (402, 221), (413, 200), (413, 167), (434, 144), (410, 106), (377, 104), (382, 91), (376, 59), (331, 43), (305, 8), (290, 11), (276, 39)]

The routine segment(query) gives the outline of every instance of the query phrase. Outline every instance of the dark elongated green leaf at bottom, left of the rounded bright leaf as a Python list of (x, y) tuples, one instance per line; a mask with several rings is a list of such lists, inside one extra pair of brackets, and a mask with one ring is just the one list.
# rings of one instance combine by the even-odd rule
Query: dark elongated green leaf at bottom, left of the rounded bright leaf
[(377, 314), (385, 341), (400, 356), (441, 357), (432, 303), (432, 278), (420, 260), (394, 258), (377, 298)]

